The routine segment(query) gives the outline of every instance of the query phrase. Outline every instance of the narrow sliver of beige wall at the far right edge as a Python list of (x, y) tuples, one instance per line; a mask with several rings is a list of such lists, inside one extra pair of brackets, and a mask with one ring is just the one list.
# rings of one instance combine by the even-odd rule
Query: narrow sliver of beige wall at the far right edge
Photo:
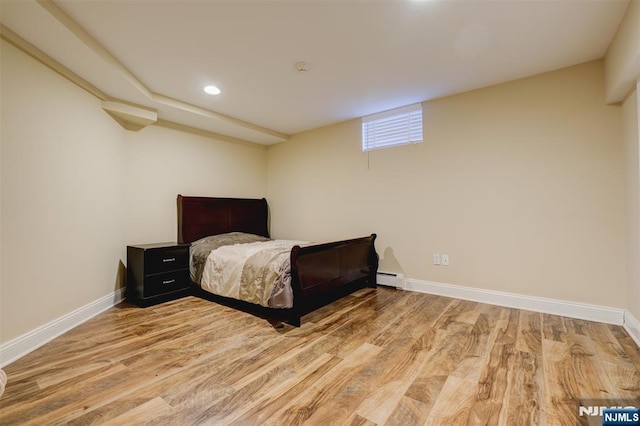
[(640, 99), (633, 91), (622, 106), (627, 199), (627, 309), (640, 319)]

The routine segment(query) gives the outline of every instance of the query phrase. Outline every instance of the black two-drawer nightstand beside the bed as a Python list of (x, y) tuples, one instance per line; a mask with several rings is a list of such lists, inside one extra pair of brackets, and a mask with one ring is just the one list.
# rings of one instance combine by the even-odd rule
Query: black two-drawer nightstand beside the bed
[(189, 244), (127, 246), (127, 300), (150, 306), (190, 292)]

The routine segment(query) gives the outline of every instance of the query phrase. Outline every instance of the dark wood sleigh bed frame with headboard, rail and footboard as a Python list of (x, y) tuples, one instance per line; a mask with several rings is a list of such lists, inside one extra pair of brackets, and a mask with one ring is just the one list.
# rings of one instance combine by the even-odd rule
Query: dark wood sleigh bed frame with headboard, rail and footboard
[[(247, 198), (186, 197), (178, 195), (178, 242), (229, 232), (269, 238), (267, 200)], [(216, 296), (194, 284), (197, 296), (230, 304), (300, 326), (300, 318), (315, 308), (365, 286), (376, 287), (378, 255), (376, 235), (291, 250), (293, 307), (263, 308)]]

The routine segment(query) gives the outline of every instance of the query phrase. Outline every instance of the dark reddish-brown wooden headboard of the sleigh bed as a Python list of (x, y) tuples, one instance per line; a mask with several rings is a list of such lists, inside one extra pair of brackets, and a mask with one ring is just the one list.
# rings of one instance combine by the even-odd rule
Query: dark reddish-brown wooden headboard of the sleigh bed
[(178, 242), (209, 235), (247, 232), (269, 237), (267, 200), (178, 195)]

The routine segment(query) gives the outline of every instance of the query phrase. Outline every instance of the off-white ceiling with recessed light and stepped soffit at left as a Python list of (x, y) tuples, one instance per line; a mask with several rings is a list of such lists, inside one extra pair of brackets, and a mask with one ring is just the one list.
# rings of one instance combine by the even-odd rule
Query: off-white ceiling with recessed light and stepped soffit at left
[[(600, 59), (628, 0), (0, 0), (110, 98), (260, 144)], [(295, 69), (304, 61), (306, 72)], [(215, 84), (222, 93), (207, 95)]]

